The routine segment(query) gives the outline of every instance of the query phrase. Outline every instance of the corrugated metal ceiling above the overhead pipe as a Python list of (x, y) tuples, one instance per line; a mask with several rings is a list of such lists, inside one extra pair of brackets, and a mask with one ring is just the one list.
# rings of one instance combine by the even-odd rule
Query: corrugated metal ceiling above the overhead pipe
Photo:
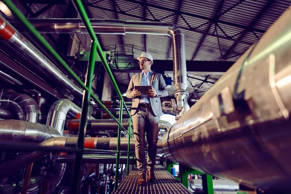
[[(290, 6), (291, 0), (84, 0), (84, 4), (94, 18), (176, 23), (185, 33), (187, 60), (236, 61)], [(250, 25), (254, 29), (247, 29)], [(120, 43), (118, 39), (122, 38), (123, 44), (146, 49), (154, 59), (172, 59), (166, 37), (107, 36), (101, 35), (103, 47)]]

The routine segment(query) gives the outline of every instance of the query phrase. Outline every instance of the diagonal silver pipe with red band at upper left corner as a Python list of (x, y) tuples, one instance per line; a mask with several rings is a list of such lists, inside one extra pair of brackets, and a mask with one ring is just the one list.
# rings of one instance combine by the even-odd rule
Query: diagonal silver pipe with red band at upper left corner
[(83, 90), (68, 79), (59, 68), (14, 29), (2, 16), (0, 16), (0, 41), (0, 49), (5, 53), (9, 53), (10, 57), (19, 61), (28, 70), (31, 70), (32, 73), (41, 74), (60, 90), (67, 89), (66, 92), (63, 91), (63, 95), (69, 97), (69, 94), (72, 93), (79, 98), (83, 97)]

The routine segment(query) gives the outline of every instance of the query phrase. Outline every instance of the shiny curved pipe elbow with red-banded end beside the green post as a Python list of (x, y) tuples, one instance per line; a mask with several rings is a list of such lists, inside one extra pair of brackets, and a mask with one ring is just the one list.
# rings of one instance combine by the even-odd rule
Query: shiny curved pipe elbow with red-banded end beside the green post
[[(66, 116), (80, 119), (81, 112), (81, 108), (69, 99), (59, 99), (55, 101), (49, 109), (47, 125), (57, 129), (59, 133), (63, 135)], [(93, 117), (89, 116), (88, 119), (89, 118), (92, 119)]]

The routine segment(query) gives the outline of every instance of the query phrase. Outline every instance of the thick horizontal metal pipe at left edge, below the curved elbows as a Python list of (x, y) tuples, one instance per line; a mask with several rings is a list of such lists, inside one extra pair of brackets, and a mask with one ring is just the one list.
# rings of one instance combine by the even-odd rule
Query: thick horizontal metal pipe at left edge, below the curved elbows
[(0, 140), (42, 142), (53, 137), (61, 137), (52, 127), (21, 120), (1, 120)]

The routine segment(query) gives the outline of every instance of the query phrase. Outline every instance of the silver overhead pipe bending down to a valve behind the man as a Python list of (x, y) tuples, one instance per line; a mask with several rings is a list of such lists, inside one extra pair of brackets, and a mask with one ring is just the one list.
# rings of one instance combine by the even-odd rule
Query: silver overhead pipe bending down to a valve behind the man
[[(87, 33), (85, 25), (81, 19), (63, 19), (63, 18), (30, 18), (29, 21), (36, 30), (42, 33)], [(177, 102), (170, 101), (165, 103), (168, 110), (175, 108), (174, 111), (181, 111), (179, 118), (189, 110), (187, 102), (187, 69), (185, 56), (185, 41), (182, 30), (177, 25), (171, 25), (163, 22), (148, 21), (126, 21), (118, 19), (90, 19), (95, 33), (97, 34), (155, 34), (169, 35), (173, 44), (173, 62), (174, 62), (174, 87), (176, 89), (175, 97)], [(23, 27), (16, 21), (11, 23), (20, 32), (25, 32)]]

